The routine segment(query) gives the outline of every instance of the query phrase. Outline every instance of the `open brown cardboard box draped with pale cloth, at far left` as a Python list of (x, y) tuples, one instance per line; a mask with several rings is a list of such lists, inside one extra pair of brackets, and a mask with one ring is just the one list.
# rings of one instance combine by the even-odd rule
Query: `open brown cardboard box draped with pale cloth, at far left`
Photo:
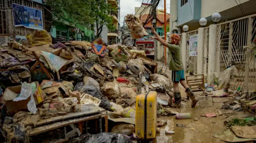
[[(36, 84), (36, 90), (33, 94), (34, 100), (36, 102), (36, 105), (40, 104), (44, 101), (44, 92), (42, 92), (38, 82), (35, 82)], [(27, 104), (30, 101), (30, 97), (28, 97), (26, 100), (20, 100), (20, 101), (12, 101), (16, 96), (20, 93), (21, 86), (10, 86), (6, 88), (6, 91), (3, 94), (5, 100), (6, 108), (9, 112), (19, 112), (20, 110), (27, 109)]]

